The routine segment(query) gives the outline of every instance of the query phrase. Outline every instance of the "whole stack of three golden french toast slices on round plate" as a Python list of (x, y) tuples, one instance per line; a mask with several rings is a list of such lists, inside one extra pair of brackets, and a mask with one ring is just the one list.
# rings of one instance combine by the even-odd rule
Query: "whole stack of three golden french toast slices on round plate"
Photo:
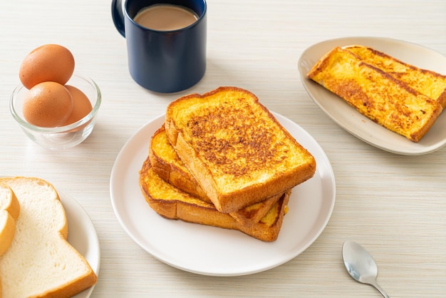
[(177, 98), (152, 136), (140, 188), (162, 217), (279, 236), (291, 189), (316, 160), (251, 92), (237, 87)]

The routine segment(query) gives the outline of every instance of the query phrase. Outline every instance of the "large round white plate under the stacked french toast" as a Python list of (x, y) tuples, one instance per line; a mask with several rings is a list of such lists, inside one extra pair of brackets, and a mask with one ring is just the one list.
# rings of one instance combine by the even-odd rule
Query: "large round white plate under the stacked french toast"
[(142, 126), (120, 150), (110, 176), (110, 195), (118, 221), (142, 249), (179, 269), (213, 276), (261, 272), (304, 252), (326, 227), (335, 203), (331, 164), (311, 135), (274, 113), (291, 135), (316, 158), (316, 174), (294, 187), (279, 238), (262, 242), (236, 230), (167, 220), (153, 211), (140, 191), (138, 171), (150, 138), (165, 116)]

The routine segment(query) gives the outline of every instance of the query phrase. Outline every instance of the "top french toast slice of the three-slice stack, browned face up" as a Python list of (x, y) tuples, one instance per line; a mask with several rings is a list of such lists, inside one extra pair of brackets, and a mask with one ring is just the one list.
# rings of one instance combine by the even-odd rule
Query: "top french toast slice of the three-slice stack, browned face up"
[(313, 177), (316, 160), (251, 92), (219, 87), (167, 106), (167, 138), (217, 210), (234, 212)]

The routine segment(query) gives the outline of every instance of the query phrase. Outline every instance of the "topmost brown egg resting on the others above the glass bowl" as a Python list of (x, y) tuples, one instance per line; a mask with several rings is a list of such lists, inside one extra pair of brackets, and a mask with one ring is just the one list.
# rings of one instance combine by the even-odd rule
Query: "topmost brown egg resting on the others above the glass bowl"
[(71, 51), (58, 44), (46, 44), (35, 48), (24, 58), (19, 78), (28, 89), (46, 81), (65, 85), (73, 71), (74, 57)]

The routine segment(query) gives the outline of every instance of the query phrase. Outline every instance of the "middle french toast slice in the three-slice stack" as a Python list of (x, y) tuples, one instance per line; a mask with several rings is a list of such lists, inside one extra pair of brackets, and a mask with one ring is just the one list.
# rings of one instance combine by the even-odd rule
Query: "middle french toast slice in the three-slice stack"
[[(149, 158), (152, 169), (163, 180), (174, 185), (184, 192), (199, 197), (204, 202), (212, 203), (207, 197), (202, 187), (199, 186), (192, 174), (187, 170), (182, 160), (178, 157), (175, 149), (170, 145), (165, 127), (162, 125), (150, 140)], [(242, 225), (252, 225), (261, 220), (271, 207), (283, 195), (273, 195), (261, 202), (243, 207), (241, 210), (230, 212), (229, 215), (234, 217)]]

